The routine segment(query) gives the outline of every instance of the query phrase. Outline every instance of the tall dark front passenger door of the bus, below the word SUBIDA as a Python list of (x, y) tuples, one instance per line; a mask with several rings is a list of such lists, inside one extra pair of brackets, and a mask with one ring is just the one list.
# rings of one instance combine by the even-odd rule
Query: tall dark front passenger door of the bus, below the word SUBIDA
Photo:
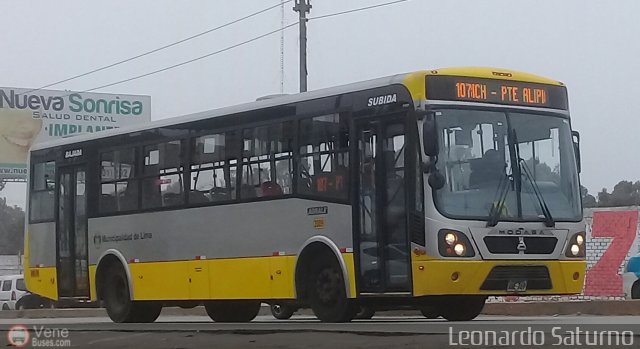
[(403, 119), (356, 122), (359, 293), (411, 292)]

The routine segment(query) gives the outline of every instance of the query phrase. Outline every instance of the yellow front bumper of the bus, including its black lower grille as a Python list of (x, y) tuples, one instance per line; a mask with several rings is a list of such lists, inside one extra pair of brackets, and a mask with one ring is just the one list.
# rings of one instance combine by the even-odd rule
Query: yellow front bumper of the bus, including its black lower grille
[(414, 296), (579, 294), (586, 270), (586, 261), (559, 260), (441, 259), (412, 264)]

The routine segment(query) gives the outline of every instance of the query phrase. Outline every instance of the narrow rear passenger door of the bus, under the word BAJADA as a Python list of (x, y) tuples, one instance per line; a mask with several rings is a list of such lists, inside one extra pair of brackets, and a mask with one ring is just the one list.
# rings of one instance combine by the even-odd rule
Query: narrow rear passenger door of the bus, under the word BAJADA
[(62, 168), (58, 177), (58, 297), (89, 297), (85, 178), (84, 166)]

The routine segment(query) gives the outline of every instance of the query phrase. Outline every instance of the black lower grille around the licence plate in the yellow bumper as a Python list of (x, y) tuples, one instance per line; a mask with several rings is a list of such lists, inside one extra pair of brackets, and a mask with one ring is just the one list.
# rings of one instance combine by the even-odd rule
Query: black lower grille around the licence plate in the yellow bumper
[(550, 290), (551, 276), (545, 266), (497, 266), (494, 267), (481, 290), (505, 291), (512, 280), (526, 280), (527, 290)]

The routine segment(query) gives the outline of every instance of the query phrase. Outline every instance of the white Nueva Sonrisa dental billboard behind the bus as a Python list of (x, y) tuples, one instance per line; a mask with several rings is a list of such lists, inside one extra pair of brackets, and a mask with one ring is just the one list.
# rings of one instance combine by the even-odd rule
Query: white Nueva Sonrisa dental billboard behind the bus
[(31, 145), (151, 121), (151, 97), (0, 87), (0, 179), (25, 179)]

